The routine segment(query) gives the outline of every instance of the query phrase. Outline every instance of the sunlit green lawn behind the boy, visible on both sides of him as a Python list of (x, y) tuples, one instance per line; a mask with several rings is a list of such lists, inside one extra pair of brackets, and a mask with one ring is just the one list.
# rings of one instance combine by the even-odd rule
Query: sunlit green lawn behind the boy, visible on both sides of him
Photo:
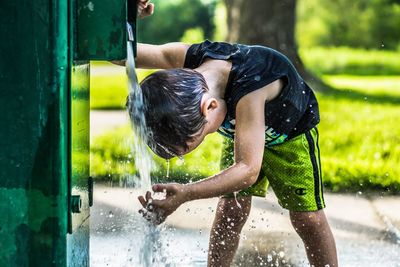
[[(322, 166), (331, 191), (400, 189), (400, 77), (325, 75), (335, 90), (318, 93)], [(92, 145), (92, 176), (121, 179), (134, 173), (129, 126), (98, 137)], [(218, 171), (219, 135), (210, 136), (184, 162), (174, 160), (171, 178), (196, 180)], [(156, 158), (155, 177), (166, 173)]]

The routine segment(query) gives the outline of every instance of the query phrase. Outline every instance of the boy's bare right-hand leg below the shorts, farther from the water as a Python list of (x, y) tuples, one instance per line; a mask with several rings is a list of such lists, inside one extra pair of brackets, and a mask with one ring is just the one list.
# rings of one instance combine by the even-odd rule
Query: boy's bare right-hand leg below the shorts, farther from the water
[(323, 210), (314, 212), (290, 212), (296, 232), (303, 240), (311, 266), (337, 267), (335, 239)]

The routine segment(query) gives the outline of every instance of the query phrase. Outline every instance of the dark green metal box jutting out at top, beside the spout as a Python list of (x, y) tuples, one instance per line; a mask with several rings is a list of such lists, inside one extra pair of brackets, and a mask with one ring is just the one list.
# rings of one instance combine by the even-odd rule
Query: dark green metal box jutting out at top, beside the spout
[(126, 1), (77, 0), (75, 15), (75, 59), (126, 58)]

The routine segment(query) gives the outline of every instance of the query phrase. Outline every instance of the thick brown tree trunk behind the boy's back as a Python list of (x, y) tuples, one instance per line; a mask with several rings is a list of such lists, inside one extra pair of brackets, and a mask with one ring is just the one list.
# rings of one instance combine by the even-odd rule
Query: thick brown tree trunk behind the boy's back
[(227, 7), (228, 41), (259, 44), (285, 54), (300, 75), (323, 89), (322, 82), (304, 67), (295, 40), (296, 0), (224, 0)]

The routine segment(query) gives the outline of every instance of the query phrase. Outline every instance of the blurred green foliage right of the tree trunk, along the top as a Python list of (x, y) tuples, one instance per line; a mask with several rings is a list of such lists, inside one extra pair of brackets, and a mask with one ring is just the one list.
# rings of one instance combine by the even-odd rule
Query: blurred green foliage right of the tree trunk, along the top
[(297, 40), (301, 47), (349, 46), (400, 49), (400, 1), (300, 0)]

